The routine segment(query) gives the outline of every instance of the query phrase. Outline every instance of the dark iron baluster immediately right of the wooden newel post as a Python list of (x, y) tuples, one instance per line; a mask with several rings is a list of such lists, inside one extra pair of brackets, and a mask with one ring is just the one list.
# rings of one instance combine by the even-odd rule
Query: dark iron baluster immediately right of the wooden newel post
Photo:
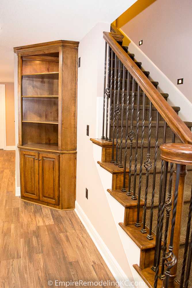
[(183, 255), (183, 266), (182, 266), (182, 273), (181, 273), (181, 280), (180, 280), (180, 288), (183, 288), (183, 283), (184, 283), (187, 250), (189, 246), (189, 236), (190, 236), (190, 229), (191, 229), (191, 214), (192, 214), (192, 187), (191, 187), (191, 199), (190, 199), (190, 205), (189, 205), (189, 217), (188, 217), (188, 222), (187, 222), (187, 232), (186, 232), (186, 237), (185, 237), (185, 248), (184, 248), (184, 255)]

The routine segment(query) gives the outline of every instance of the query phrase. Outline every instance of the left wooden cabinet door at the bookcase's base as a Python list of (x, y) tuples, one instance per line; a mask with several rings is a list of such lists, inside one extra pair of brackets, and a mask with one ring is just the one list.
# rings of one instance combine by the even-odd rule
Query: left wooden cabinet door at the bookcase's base
[(20, 151), (21, 157), (21, 194), (22, 196), (39, 199), (39, 153)]

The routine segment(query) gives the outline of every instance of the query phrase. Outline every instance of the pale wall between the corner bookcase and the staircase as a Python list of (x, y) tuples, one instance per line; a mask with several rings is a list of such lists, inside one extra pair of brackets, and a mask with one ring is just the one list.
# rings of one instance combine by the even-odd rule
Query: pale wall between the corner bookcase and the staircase
[[(94, 145), (90, 141), (91, 137), (96, 138), (97, 135), (97, 98), (103, 94), (103, 31), (110, 31), (110, 25), (98, 23), (79, 44), (81, 67), (78, 69), (77, 96), (77, 202), (131, 279), (130, 266), (94, 161)], [(86, 136), (86, 125), (90, 127), (89, 136)], [(110, 175), (109, 183), (111, 185)], [(88, 200), (85, 198), (85, 188), (88, 188)]]

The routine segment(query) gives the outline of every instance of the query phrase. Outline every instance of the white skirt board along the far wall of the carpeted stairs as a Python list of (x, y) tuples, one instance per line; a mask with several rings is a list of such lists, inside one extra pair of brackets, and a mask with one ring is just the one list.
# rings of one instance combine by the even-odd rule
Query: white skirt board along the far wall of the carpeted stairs
[(149, 80), (158, 81), (157, 90), (160, 93), (169, 94), (168, 103), (171, 106), (179, 106), (181, 108), (179, 117), (183, 121), (191, 121), (192, 103), (121, 29), (119, 31), (131, 41), (129, 43), (129, 53), (134, 53), (135, 60), (142, 62), (142, 68), (150, 72)]

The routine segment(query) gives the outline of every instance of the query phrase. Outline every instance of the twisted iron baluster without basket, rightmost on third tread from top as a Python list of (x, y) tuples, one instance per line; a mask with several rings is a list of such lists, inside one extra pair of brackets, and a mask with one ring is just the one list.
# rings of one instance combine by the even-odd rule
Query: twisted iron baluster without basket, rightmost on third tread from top
[(132, 199), (137, 200), (136, 196), (136, 179), (137, 179), (137, 157), (138, 157), (138, 134), (139, 134), (139, 112), (140, 112), (140, 87), (137, 89), (137, 124), (136, 124), (136, 146), (135, 146), (135, 167), (134, 167), (134, 184)]

